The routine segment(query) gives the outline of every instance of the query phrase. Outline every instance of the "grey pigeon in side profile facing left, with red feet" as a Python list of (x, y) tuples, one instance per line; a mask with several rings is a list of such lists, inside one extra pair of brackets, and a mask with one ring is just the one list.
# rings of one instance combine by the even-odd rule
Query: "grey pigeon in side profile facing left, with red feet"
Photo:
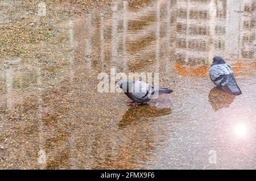
[[(152, 86), (142, 81), (130, 81), (121, 80), (117, 83), (123, 92), (130, 98), (131, 102), (128, 103), (144, 103), (150, 101), (150, 99), (156, 98), (160, 94), (170, 94), (172, 90)], [(158, 91), (158, 94), (157, 94)]]

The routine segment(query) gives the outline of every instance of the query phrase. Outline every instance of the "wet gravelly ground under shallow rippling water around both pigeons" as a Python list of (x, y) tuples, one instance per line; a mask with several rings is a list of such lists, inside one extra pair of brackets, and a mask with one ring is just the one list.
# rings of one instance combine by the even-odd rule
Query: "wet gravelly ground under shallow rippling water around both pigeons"
[[(1, 169), (256, 169), (254, 0), (26, 2), (0, 3)], [(216, 55), (242, 95), (210, 81)], [(128, 106), (97, 91), (110, 68), (174, 92)]]

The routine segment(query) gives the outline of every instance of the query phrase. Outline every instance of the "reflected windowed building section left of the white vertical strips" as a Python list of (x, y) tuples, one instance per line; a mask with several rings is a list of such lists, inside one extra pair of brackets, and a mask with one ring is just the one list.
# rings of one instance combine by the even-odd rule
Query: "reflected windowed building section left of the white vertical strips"
[(179, 60), (203, 61), (209, 52), (209, 2), (177, 1), (176, 53)]

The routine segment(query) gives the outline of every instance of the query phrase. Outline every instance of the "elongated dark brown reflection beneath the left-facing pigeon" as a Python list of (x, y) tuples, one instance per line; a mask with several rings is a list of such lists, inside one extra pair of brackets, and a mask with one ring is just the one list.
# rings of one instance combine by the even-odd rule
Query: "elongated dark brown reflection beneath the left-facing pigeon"
[(119, 128), (135, 124), (138, 121), (148, 120), (150, 117), (164, 116), (169, 115), (170, 113), (172, 113), (170, 108), (159, 108), (150, 106), (149, 104), (131, 106), (122, 116), (122, 120), (119, 122)]

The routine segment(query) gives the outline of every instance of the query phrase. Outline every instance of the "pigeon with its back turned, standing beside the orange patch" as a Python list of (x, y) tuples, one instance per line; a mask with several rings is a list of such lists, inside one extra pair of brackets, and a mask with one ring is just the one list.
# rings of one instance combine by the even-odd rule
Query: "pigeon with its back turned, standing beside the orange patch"
[(221, 57), (214, 57), (210, 66), (210, 79), (221, 90), (233, 95), (242, 94), (234, 78), (234, 72)]

